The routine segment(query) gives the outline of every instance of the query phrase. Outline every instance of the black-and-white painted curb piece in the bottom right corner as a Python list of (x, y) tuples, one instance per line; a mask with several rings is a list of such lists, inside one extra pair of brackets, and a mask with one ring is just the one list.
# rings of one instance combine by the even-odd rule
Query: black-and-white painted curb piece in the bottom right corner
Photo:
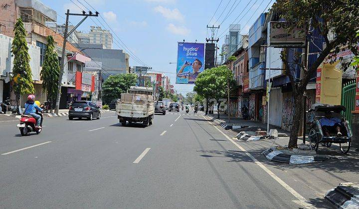
[(336, 208), (359, 209), (359, 184), (341, 183), (338, 187), (329, 190), (324, 198)]

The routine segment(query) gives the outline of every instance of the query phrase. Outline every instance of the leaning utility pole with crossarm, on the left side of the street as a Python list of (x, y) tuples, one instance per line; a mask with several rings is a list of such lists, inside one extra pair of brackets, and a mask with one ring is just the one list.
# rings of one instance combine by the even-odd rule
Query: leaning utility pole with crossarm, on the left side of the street
[[(77, 14), (77, 13), (70, 13), (70, 9), (67, 9), (66, 12), (66, 22), (65, 22), (65, 32), (63, 35), (63, 43), (62, 43), (62, 53), (61, 53), (61, 66), (60, 66), (60, 72), (59, 72), (59, 81), (58, 81), (58, 85), (57, 85), (57, 97), (56, 97), (56, 105), (55, 105), (55, 113), (58, 114), (58, 110), (59, 110), (59, 106), (60, 106), (60, 97), (61, 97), (61, 86), (62, 86), (62, 75), (63, 75), (63, 71), (65, 68), (65, 50), (66, 50), (66, 41), (67, 41), (67, 37), (69, 35), (71, 35), (72, 32), (74, 32), (77, 27), (83, 22), (85, 21), (85, 19), (88, 16), (98, 16), (98, 12), (96, 11), (95, 14), (92, 13), (92, 11), (89, 11), (88, 14), (86, 14), (85, 11), (82, 11), (81, 14)], [(68, 32), (68, 18), (70, 15), (75, 15), (75, 16), (85, 16), (70, 32)]]

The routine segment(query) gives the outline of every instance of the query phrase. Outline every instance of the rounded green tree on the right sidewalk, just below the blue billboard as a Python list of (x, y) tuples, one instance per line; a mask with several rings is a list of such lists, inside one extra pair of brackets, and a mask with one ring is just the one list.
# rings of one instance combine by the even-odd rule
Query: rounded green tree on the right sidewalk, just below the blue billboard
[[(227, 82), (230, 89), (235, 86), (232, 72), (225, 65), (207, 69), (200, 73), (195, 80), (193, 90), (201, 97), (206, 99), (215, 99), (217, 108), (221, 103), (220, 99), (226, 98), (228, 91)], [(219, 118), (219, 111), (218, 118)]]

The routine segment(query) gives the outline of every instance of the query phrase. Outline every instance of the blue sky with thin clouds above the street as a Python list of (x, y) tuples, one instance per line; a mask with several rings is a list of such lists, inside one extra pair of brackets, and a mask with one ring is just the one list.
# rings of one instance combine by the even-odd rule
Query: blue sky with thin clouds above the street
[[(80, 12), (70, 0), (41, 0), (65, 17), (67, 8), (70, 12)], [(77, 5), (87, 10), (91, 8), (85, 0), (73, 0)], [(229, 24), (241, 24), (242, 34), (246, 34), (255, 19), (262, 13), (268, 3), (274, 0), (86, 0), (100, 12), (100, 15), (111, 26), (122, 42), (144, 63), (154, 71), (168, 72), (172, 84), (175, 80), (177, 42), (185, 39), (189, 42), (205, 42), (207, 37), (206, 25), (220, 25), (217, 36), (219, 46), (224, 42), (224, 35)], [(221, 2), (221, 3), (220, 3)], [(219, 5), (219, 7), (218, 7)], [(218, 9), (217, 9), (218, 7)], [(92, 8), (91, 8), (92, 9)], [(213, 13), (213, 19), (209, 22)], [(266, 9), (267, 10), (267, 9)], [(242, 13), (241, 13), (242, 12)], [(59, 24), (65, 19), (57, 16)], [(227, 18), (225, 18), (227, 16)], [(96, 19), (97, 18), (97, 19)], [(237, 19), (236, 19), (237, 18)], [(101, 17), (92, 17), (99, 26), (101, 23), (109, 29)], [(94, 21), (87, 18), (79, 27), (87, 32)], [(223, 21), (224, 20), (224, 21)], [(69, 21), (77, 24), (80, 17), (70, 16)], [(100, 23), (101, 22), (101, 23)], [(96, 25), (95, 25), (96, 26)], [(209, 31), (208, 31), (209, 33)], [(114, 38), (118, 39), (113, 35)], [(123, 49), (114, 41), (113, 48)], [(120, 42), (121, 43), (121, 42)], [(122, 43), (121, 43), (122, 44)], [(128, 52), (125, 48), (125, 51)], [(129, 52), (128, 52), (129, 53)], [(220, 51), (219, 51), (220, 53)], [(218, 53), (218, 54), (219, 54)], [(131, 66), (140, 63), (130, 58)], [(175, 89), (185, 94), (193, 90), (193, 85), (174, 84)]]

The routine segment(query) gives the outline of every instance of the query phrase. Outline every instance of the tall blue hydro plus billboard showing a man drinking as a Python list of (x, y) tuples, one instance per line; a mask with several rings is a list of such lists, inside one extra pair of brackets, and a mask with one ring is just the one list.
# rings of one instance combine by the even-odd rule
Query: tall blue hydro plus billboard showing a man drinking
[(178, 43), (177, 84), (194, 84), (204, 69), (204, 43)]

